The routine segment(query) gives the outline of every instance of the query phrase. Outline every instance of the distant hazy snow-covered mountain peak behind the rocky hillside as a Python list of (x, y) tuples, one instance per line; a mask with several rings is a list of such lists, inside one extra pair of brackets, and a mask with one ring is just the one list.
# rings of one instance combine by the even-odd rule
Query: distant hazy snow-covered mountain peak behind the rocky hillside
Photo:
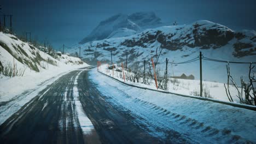
[(160, 24), (161, 19), (153, 12), (141, 12), (131, 15), (117, 14), (109, 17), (107, 20), (101, 21), (87, 37), (80, 41), (80, 44), (94, 40), (112, 38), (112, 36), (115, 37), (115, 33), (127, 36), (142, 31), (145, 28), (159, 26)]

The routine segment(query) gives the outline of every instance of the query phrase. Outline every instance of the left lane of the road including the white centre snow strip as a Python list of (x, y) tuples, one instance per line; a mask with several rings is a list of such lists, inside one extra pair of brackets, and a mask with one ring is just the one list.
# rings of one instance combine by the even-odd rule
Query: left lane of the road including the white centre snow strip
[[(40, 92), (24, 106), (13, 107), (12, 104), (15, 104), (16, 99), (2, 104), (0, 110), (7, 108), (6, 111), (1, 112), (3, 116), (8, 116), (11, 109), (19, 110), (0, 125), (0, 141), (3, 143), (100, 143), (94, 125), (80, 104), (78, 92), (74, 91), (78, 85), (78, 76), (85, 70), (87, 69), (74, 70), (60, 76), (51, 85), (40, 89)], [(21, 98), (27, 99), (26, 94)]]

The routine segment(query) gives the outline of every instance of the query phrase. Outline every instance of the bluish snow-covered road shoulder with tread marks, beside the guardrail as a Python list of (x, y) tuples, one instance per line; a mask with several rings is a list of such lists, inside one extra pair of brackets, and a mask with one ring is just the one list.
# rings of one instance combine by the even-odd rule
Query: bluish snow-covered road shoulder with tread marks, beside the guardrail
[(256, 142), (255, 111), (127, 87), (96, 69), (91, 71), (90, 79), (106, 95), (106, 101), (132, 113), (134, 122), (147, 125), (154, 136), (165, 139), (163, 131), (175, 130), (192, 143)]

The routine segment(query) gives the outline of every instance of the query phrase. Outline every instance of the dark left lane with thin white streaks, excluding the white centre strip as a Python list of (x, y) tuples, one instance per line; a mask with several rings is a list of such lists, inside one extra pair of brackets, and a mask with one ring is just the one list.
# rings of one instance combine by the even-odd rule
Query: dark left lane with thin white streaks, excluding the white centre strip
[(68, 119), (65, 129), (62, 130), (59, 126), (64, 92), (67, 87), (70, 87), (71, 91), (67, 93), (66, 98), (73, 98), (70, 95), (72, 95), (74, 79), (71, 78), (78, 73), (79, 71), (72, 71), (60, 77), (49, 86), (50, 89), (40, 92), (43, 95), (37, 95), (30, 103), (22, 106), (18, 112), (8, 118), (0, 126), (0, 141), (3, 143), (83, 143), (82, 130), (80, 127), (75, 128), (73, 124), (79, 123), (74, 115), (74, 100), (67, 105), (68, 111), (64, 111), (66, 114), (71, 114), (71, 118), (63, 117), (65, 119), (63, 121)]

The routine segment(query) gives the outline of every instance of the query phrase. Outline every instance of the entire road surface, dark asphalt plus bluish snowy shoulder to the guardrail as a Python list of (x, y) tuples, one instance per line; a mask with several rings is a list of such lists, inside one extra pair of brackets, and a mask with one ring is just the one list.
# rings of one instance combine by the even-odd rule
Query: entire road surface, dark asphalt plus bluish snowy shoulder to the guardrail
[(255, 111), (128, 87), (95, 68), (80, 69), (9, 117), (0, 126), (0, 141), (255, 143), (255, 121)]

